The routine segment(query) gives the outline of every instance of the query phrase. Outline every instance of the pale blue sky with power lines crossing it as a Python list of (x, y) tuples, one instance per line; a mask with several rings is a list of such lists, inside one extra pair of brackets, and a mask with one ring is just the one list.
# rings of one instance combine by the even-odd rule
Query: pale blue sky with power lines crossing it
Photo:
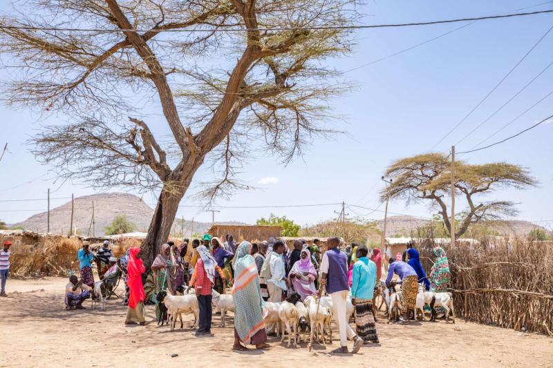
[[(401, 23), (432, 21), (512, 12), (534, 6), (534, 1), (368, 1), (362, 11), (374, 14), (366, 23)], [(546, 3), (526, 11), (553, 9)], [(6, 6), (0, 6), (6, 10)], [(415, 44), (432, 39), (462, 23), (416, 28), (386, 28), (356, 31), (355, 51), (347, 58), (333, 60), (339, 70), (350, 70), (386, 57)], [(394, 159), (424, 153), (457, 124), (482, 97), (521, 59), (529, 48), (553, 26), (553, 15), (478, 21), (419, 48), (409, 50), (348, 72), (359, 86), (344, 97), (335, 99), (335, 112), (346, 118), (336, 127), (345, 130), (331, 141), (313, 142), (301, 159), (283, 167), (274, 157), (256, 157), (247, 162), (240, 177), (264, 189), (237, 193), (232, 200), (218, 204), (259, 206), (279, 204), (317, 204), (345, 201), (376, 208), (380, 177)], [(461, 126), (436, 149), (449, 151), (471, 129), (480, 124), (512, 97), (538, 72), (553, 61), (553, 32), (518, 66), (513, 74)], [(2, 73), (6, 73), (4, 70)], [(4, 74), (5, 75), (5, 74)], [(472, 148), (482, 139), (532, 106), (553, 90), (553, 68), (543, 72), (521, 95), (476, 132), (458, 145), (457, 151)], [(155, 109), (155, 106), (154, 106)], [(553, 95), (511, 124), (489, 142), (503, 139), (552, 115)], [(0, 200), (46, 198), (47, 188), (57, 189), (52, 197), (91, 194), (82, 183), (54, 183), (48, 167), (35, 162), (24, 142), (39, 126), (37, 115), (0, 106), (0, 144), (8, 142), (8, 153), (0, 162)], [(60, 117), (63, 119), (63, 117)], [(156, 120), (157, 119), (157, 120)], [(151, 117), (153, 124), (162, 124)], [(158, 123), (156, 123), (158, 122)], [(553, 123), (542, 124), (521, 137), (477, 153), (462, 155), (469, 162), (507, 161), (529, 168), (540, 180), (537, 188), (527, 191), (498, 191), (493, 197), (519, 202), (518, 218), (532, 221), (553, 220)], [(207, 170), (207, 169), (206, 169)], [(200, 169), (195, 180), (209, 177)], [(259, 181), (266, 177), (277, 180)], [(278, 181), (278, 182), (277, 182)], [(489, 198), (493, 198), (490, 196)], [(144, 200), (155, 202), (153, 195)], [(53, 206), (66, 200), (53, 200)], [(202, 204), (183, 200), (181, 204)], [(384, 206), (380, 207), (383, 209)], [(46, 200), (39, 202), (0, 202), (0, 220), (12, 223), (32, 213), (44, 211)], [(405, 206), (392, 202), (390, 211), (427, 217), (428, 206)], [(21, 211), (19, 211), (21, 210)], [(40, 211), (22, 211), (40, 210)], [(301, 224), (315, 223), (334, 216), (339, 206), (290, 209), (221, 209), (216, 220), (254, 222), (272, 211), (288, 215)], [(369, 211), (353, 209), (365, 214)], [(347, 211), (355, 215), (351, 209)], [(178, 216), (210, 221), (211, 213), (200, 209), (180, 209)], [(375, 212), (366, 218), (381, 218)], [(553, 222), (541, 223), (553, 226)]]

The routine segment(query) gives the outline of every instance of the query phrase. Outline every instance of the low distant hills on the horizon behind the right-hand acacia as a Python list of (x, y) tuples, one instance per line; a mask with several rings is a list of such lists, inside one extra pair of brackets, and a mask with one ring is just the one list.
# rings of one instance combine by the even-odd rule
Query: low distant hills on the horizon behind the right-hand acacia
[[(388, 216), (386, 220), (386, 235), (404, 235), (409, 236), (411, 231), (415, 233), (418, 227), (428, 224), (428, 220), (423, 220), (413, 216)], [(384, 219), (377, 220), (377, 227), (380, 231), (384, 229)], [(508, 220), (505, 222), (498, 222), (492, 225), (492, 227), (502, 235), (527, 235), (532, 229), (541, 229), (545, 233), (550, 233), (543, 226), (532, 224), (523, 220)]]

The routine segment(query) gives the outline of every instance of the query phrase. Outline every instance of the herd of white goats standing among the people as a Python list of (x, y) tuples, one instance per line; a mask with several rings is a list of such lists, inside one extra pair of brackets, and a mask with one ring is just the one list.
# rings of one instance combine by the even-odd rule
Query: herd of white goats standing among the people
[[(389, 322), (397, 322), (400, 312), (402, 311), (402, 292), (396, 291), (395, 282), (391, 282), (389, 287), (386, 287), (384, 282), (380, 282), (375, 288), (375, 296), (381, 297), (380, 305), (377, 309), (386, 304), (385, 315), (388, 316)], [(195, 291), (192, 288), (178, 287), (175, 296), (171, 296), (167, 291), (160, 291), (156, 296), (160, 306), (160, 318), (158, 325), (163, 325), (164, 315), (167, 313), (167, 323), (174, 330), (177, 319), (180, 320), (180, 328), (182, 329), (182, 314), (194, 314), (194, 325), (198, 325), (198, 300)], [(212, 291), (212, 304), (216, 311), (221, 312), (221, 322), (219, 327), (225, 327), (225, 314), (227, 311), (234, 312), (234, 302), (231, 294), (220, 294), (217, 291)], [(376, 306), (376, 304), (374, 304)], [(426, 320), (424, 307), (429, 305), (431, 308), (430, 320), (435, 320), (435, 307), (443, 307), (446, 320), (449, 319), (449, 314), (453, 323), (455, 323), (455, 312), (453, 310), (453, 298), (451, 293), (433, 293), (424, 290), (424, 285), (420, 284), (418, 289), (417, 301), (413, 310), (413, 318)], [(265, 326), (268, 332), (275, 332), (277, 337), (281, 336), (281, 341), (285, 340), (285, 333), (288, 334), (288, 347), (290, 345), (297, 346), (301, 341), (300, 333), (303, 336), (303, 342), (307, 342), (309, 336), (309, 346), (313, 339), (315, 342), (332, 344), (332, 329), (330, 322), (332, 321), (332, 298), (330, 296), (322, 296), (320, 301), (316, 296), (308, 296), (303, 302), (299, 294), (292, 293), (282, 302), (265, 302)], [(411, 311), (409, 311), (411, 312)], [(347, 316), (354, 315), (354, 307), (351, 300), (351, 294), (348, 294), (347, 299)], [(373, 309), (375, 315), (375, 309)], [(376, 316), (375, 316), (376, 320)], [(309, 331), (309, 335), (308, 335)]]

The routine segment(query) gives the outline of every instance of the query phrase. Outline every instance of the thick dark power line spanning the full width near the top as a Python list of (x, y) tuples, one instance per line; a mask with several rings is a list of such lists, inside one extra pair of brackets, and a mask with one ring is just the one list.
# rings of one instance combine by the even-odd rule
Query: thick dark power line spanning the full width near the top
[(57, 28), (57, 27), (35, 27), (35, 26), (0, 26), (0, 29), (6, 30), (45, 30), (57, 32), (243, 32), (243, 31), (259, 31), (259, 32), (274, 32), (279, 30), (348, 30), (348, 29), (369, 29), (369, 28), (398, 28), (411, 26), (429, 26), (433, 24), (456, 23), (460, 21), (480, 21), (485, 19), (502, 19), (512, 17), (525, 17), (527, 15), (547, 14), (553, 10), (541, 10), (536, 12), (522, 12), (515, 14), (500, 14), (487, 15), (484, 17), (471, 17), (459, 19), (445, 19), (440, 21), (425, 21), (413, 23), (391, 23), (391, 24), (364, 24), (359, 26), (320, 26), (320, 27), (277, 27), (277, 28), (198, 28), (198, 29), (99, 29), (99, 28)]

